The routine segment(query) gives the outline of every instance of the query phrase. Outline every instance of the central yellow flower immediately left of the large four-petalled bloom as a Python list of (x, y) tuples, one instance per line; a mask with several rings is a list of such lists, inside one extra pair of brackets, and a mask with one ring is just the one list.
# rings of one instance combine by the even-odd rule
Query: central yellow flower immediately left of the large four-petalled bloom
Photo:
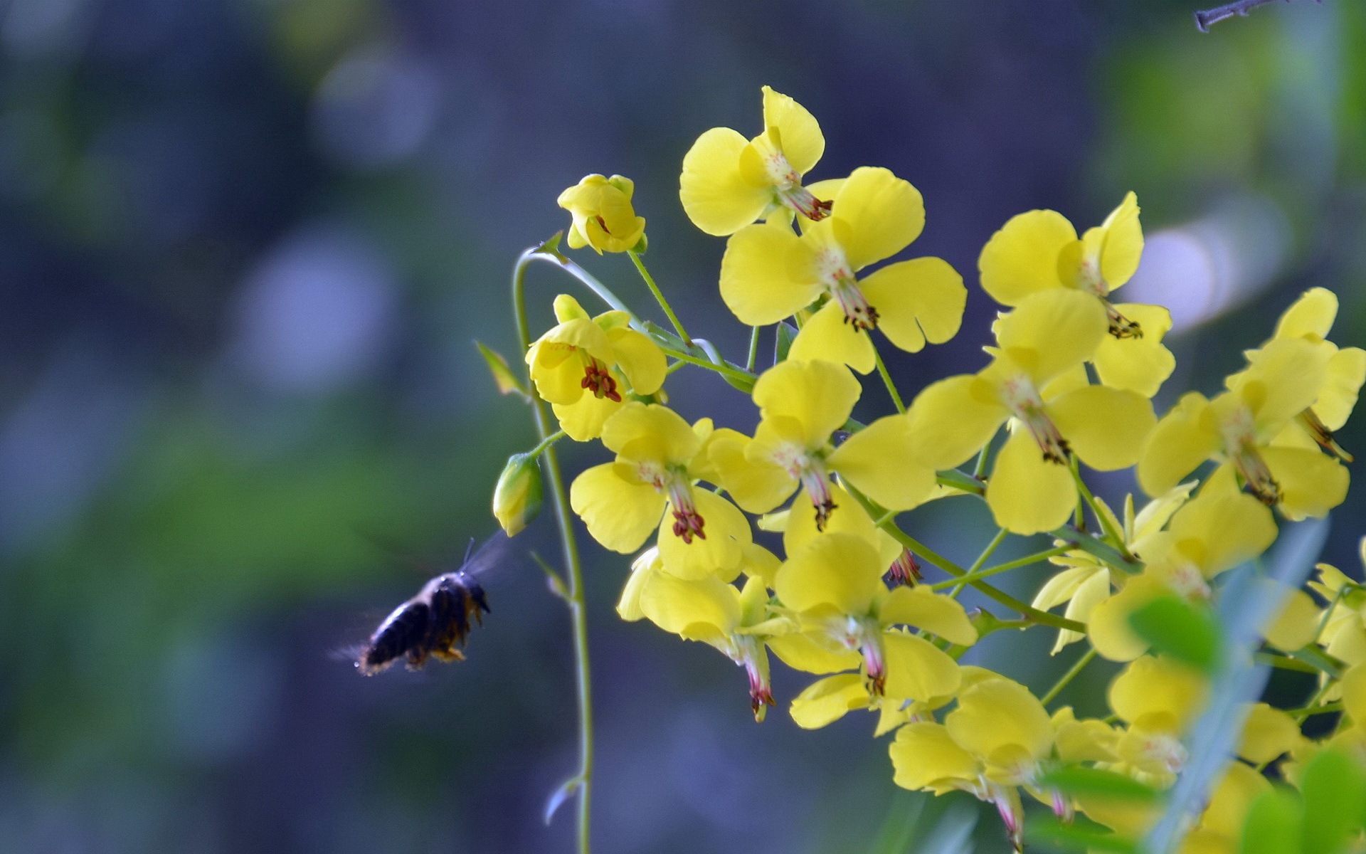
[(788, 359), (764, 372), (753, 392), (759, 406), (754, 439), (731, 430), (709, 448), (721, 485), (750, 512), (773, 510), (800, 486), (822, 530), (836, 508), (831, 473), (882, 507), (915, 507), (934, 488), (934, 470), (911, 447), (904, 417), (880, 418), (831, 445), (861, 391), (854, 374), (833, 362)]

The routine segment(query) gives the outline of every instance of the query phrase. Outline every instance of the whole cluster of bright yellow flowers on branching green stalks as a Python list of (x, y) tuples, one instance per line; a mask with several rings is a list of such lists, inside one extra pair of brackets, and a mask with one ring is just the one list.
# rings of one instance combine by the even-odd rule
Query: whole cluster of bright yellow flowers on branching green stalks
[[(940, 258), (892, 260), (925, 225), (910, 182), (861, 167), (803, 183), (824, 148), (811, 113), (764, 87), (762, 133), (747, 139), (713, 128), (683, 159), (687, 216), (727, 236), (724, 303), (755, 336), (758, 327), (796, 328), (762, 372), (753, 348), (742, 368), (683, 333), (639, 260), (645, 220), (631, 182), (591, 175), (560, 197), (572, 213), (570, 246), (631, 253), (679, 332), (620, 309), (590, 317), (561, 295), (559, 324), (526, 353), (535, 394), (563, 432), (615, 455), (574, 480), (570, 506), (604, 548), (639, 552), (617, 611), (744, 667), (758, 720), (775, 704), (770, 653), (818, 676), (791, 700), (798, 724), (876, 712), (874, 734), (895, 731), (896, 784), (990, 801), (1016, 844), (1020, 793), (1060, 817), (1079, 810), (1141, 835), (1156, 805), (1070, 793), (1049, 775), (1085, 767), (1172, 786), (1208, 675), (1154, 655), (1132, 618), (1164, 597), (1208, 609), (1220, 574), (1276, 540), (1277, 515), (1324, 516), (1344, 500), (1351, 456), (1333, 432), (1355, 406), (1366, 351), (1328, 340), (1337, 301), (1314, 288), (1246, 353), (1223, 392), (1190, 392), (1157, 418), (1152, 398), (1175, 366), (1162, 344), (1171, 317), (1112, 299), (1143, 250), (1130, 193), (1081, 236), (1053, 210), (1022, 213), (992, 235), (978, 272), (1004, 310), (984, 366), (932, 383), (902, 407), (873, 333), (908, 353), (943, 343), (959, 331), (967, 290)], [(664, 406), (665, 376), (684, 365), (747, 388), (758, 409), (753, 433), (705, 417), (688, 424)], [(874, 369), (899, 410), (865, 425), (851, 414), (861, 374)], [(1150, 500), (1135, 510), (1130, 496), (1113, 512), (1091, 495), (1083, 466), (1134, 467)], [(1001, 529), (970, 568), (922, 547), (897, 521), (953, 495), (984, 499)], [(746, 514), (780, 536), (781, 557), (755, 542)], [(1052, 549), (984, 567), (1007, 534), (1040, 533), (1055, 538)], [(985, 581), (1045, 560), (1059, 571), (1033, 604)], [(948, 578), (923, 583), (921, 562)], [(955, 598), (964, 585), (1015, 614), (970, 616)], [(1238, 850), (1253, 799), (1270, 787), (1261, 772), (1290, 757), (1281, 771), (1295, 779), (1322, 749), (1300, 734), (1313, 715), (1346, 709), (1329, 741), (1366, 761), (1366, 588), (1321, 566), (1313, 590), (1322, 607), (1303, 590), (1287, 594), (1264, 633), (1265, 655), (1320, 663), (1320, 690), (1296, 713), (1246, 709), (1238, 757), (1228, 757), (1184, 850)], [(1059, 630), (1055, 652), (1091, 648), (1070, 676), (1097, 653), (1123, 663), (1109, 717), (1050, 712), (1063, 683), (1041, 698), (959, 664), (979, 635), (1035, 626)]]

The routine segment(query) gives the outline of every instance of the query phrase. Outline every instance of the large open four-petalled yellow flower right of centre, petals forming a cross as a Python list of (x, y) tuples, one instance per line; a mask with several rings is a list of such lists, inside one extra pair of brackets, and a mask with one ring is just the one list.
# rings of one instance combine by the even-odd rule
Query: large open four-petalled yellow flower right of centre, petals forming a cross
[(951, 469), (1012, 419), (986, 484), (992, 515), (1016, 534), (1063, 525), (1076, 507), (1068, 452), (1093, 469), (1124, 469), (1154, 422), (1147, 398), (1086, 383), (1081, 363), (1102, 338), (1105, 312), (1091, 297), (1065, 288), (1029, 297), (997, 321), (990, 365), (917, 396), (917, 450), (934, 469)]

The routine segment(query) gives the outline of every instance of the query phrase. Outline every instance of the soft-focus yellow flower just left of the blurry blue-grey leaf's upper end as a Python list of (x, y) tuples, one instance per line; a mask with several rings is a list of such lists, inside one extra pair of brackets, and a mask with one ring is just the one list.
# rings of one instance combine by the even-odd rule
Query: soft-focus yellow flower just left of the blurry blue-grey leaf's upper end
[(1091, 644), (1112, 661), (1143, 655), (1147, 642), (1130, 627), (1131, 614), (1162, 594), (1209, 601), (1216, 575), (1261, 555), (1274, 540), (1276, 521), (1257, 499), (1206, 484), (1172, 515), (1165, 532), (1147, 537), (1143, 573), (1091, 608)]

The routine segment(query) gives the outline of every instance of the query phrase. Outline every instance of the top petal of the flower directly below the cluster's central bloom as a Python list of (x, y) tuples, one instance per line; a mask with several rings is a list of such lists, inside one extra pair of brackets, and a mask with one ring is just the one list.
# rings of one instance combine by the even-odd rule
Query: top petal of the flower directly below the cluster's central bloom
[(794, 611), (832, 605), (841, 614), (863, 615), (884, 589), (885, 570), (863, 538), (828, 533), (788, 555), (773, 579), (773, 590)]

